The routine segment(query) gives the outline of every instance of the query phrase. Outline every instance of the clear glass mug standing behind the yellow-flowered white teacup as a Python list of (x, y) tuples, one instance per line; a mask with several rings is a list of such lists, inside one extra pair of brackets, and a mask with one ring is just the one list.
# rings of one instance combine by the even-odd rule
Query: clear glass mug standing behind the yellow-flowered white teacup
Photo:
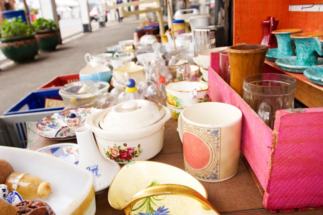
[(191, 80), (190, 63), (186, 59), (168, 59), (156, 62), (156, 88), (158, 103), (166, 106), (166, 90), (167, 82), (175, 82), (182, 80)]

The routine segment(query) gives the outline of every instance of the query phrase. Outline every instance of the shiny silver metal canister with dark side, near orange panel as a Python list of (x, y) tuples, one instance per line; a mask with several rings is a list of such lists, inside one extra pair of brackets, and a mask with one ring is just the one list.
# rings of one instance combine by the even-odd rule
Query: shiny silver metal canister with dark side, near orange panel
[(223, 26), (202, 26), (194, 28), (194, 55), (209, 48), (224, 46)]

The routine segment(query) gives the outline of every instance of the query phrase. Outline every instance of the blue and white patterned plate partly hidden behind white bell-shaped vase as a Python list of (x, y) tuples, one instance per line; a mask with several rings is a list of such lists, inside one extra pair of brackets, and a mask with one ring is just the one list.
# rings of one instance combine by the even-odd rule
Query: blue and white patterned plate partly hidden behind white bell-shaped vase
[(39, 152), (55, 156), (66, 160), (70, 163), (78, 164), (79, 153), (78, 144), (75, 143), (58, 143), (43, 148), (39, 148)]

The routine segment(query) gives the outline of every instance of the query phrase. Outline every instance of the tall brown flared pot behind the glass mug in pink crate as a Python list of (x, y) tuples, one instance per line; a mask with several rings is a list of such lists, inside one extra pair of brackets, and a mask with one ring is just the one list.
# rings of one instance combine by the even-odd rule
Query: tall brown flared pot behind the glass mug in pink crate
[(268, 46), (247, 44), (226, 49), (230, 61), (230, 86), (242, 97), (243, 79), (251, 74), (262, 73)]

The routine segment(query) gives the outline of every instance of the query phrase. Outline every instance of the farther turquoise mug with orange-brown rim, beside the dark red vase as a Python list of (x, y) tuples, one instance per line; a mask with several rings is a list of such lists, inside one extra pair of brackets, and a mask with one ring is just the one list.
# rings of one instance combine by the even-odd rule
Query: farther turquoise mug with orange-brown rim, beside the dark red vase
[(276, 36), (278, 47), (277, 47), (277, 57), (287, 57), (287, 56), (295, 56), (295, 44), (290, 35), (295, 33), (302, 32), (302, 29), (280, 29), (276, 31), (272, 31), (272, 33)]

